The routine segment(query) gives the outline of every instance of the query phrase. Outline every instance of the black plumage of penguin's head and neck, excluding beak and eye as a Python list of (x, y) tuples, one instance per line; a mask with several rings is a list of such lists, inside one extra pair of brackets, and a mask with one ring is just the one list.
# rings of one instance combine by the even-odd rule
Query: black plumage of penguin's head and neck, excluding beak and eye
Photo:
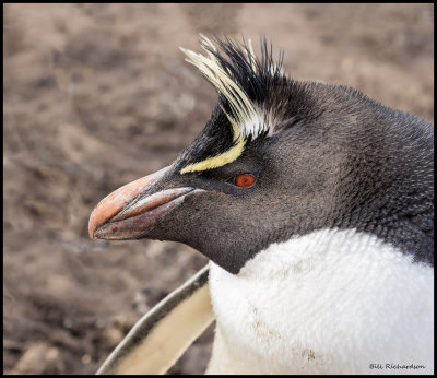
[[(135, 201), (168, 188), (205, 192), (187, 197), (143, 237), (186, 243), (237, 273), (272, 243), (354, 228), (434, 264), (433, 126), (351, 87), (292, 80), (265, 39), (260, 59), (248, 44), (217, 45), (204, 48), (259, 111), (261, 132), (245, 135), (234, 161), (184, 173), (236, 143), (229, 115), (238, 115), (218, 90), (203, 131)], [(253, 187), (233, 185), (244, 173), (257, 178)]]

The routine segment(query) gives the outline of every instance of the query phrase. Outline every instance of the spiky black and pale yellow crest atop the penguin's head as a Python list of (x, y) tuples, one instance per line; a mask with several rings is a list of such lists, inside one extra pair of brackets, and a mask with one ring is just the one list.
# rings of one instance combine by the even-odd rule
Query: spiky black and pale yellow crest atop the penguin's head
[[(260, 59), (251, 43), (238, 44), (228, 37), (203, 37), (208, 57), (182, 49), (187, 61), (197, 66), (218, 93), (204, 130), (179, 155), (180, 167), (217, 156), (236, 144), (233, 125), (239, 128), (246, 145), (293, 126), (303, 118), (314, 118), (311, 98), (305, 85), (287, 78), (283, 54), (274, 59), (272, 45), (260, 40)], [(217, 46), (217, 48), (216, 48)], [(249, 104), (249, 105), (247, 105)]]

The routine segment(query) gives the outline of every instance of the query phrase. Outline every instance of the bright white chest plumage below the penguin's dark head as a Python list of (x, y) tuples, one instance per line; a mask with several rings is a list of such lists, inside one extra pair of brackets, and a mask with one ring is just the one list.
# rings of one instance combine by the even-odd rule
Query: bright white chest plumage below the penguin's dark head
[(433, 371), (434, 270), (374, 236), (318, 231), (271, 245), (238, 275), (211, 262), (210, 290), (209, 373)]

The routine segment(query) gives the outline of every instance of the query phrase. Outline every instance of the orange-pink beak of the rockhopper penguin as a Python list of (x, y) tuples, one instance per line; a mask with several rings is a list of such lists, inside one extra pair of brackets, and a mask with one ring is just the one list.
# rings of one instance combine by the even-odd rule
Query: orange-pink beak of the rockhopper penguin
[(140, 178), (104, 198), (90, 216), (88, 234), (94, 239), (137, 239), (184, 201), (194, 188), (172, 188), (145, 194), (169, 167)]

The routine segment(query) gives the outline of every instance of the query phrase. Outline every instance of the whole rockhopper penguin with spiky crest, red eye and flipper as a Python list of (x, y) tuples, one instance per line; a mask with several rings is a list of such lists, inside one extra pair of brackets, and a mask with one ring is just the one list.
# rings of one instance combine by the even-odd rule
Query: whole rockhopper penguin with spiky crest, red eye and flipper
[(164, 373), (213, 318), (206, 373), (433, 373), (433, 126), (292, 80), (265, 39), (260, 58), (201, 46), (182, 51), (218, 93), (203, 131), (104, 199), (90, 235), (185, 243), (209, 268), (101, 373)]

